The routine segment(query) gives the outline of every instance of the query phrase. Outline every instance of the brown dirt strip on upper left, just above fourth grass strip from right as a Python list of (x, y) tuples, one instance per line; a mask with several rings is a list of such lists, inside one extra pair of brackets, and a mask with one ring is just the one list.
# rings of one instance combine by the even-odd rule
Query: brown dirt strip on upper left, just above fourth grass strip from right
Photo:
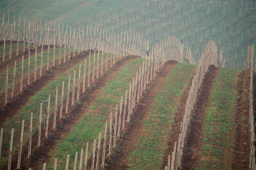
[[(2, 126), (7, 119), (11, 119), (13, 115), (15, 115), (18, 112), (18, 110), (28, 102), (30, 97), (35, 95), (35, 93), (40, 91), (50, 81), (55, 80), (56, 75), (58, 75), (59, 73), (66, 72), (72, 67), (72, 65), (79, 63), (80, 61), (83, 61), (85, 59), (85, 56), (88, 55), (89, 52), (83, 52), (78, 56), (70, 59), (68, 62), (62, 63), (62, 65), (58, 66), (57, 69), (51, 70), (51, 72), (45, 72), (42, 78), (37, 79), (37, 81), (31, 83), (30, 86), (26, 86), (27, 88), (23, 91), (23, 93), (14, 98), (12, 102), (8, 102), (7, 105), (2, 105), (0, 107), (0, 126)], [(34, 80), (33, 75), (31, 75), (31, 79)], [(4, 98), (1, 98), (0, 101), (1, 100), (4, 100)]]

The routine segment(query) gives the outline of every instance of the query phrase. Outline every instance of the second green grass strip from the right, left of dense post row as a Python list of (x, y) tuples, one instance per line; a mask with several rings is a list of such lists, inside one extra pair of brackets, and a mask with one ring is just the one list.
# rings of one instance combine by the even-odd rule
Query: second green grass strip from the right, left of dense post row
[(167, 140), (172, 137), (175, 127), (180, 126), (175, 121), (175, 115), (183, 93), (190, 86), (195, 67), (178, 63), (169, 74), (144, 122), (145, 133), (138, 138), (135, 150), (128, 156), (130, 170), (161, 168), (168, 148)]

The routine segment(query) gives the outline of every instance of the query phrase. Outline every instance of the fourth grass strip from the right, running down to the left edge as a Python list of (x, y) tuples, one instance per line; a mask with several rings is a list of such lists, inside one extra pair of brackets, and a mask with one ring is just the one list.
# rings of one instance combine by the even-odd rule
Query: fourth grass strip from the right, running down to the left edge
[[(57, 49), (56, 49), (57, 50)], [(103, 65), (105, 65), (106, 54), (103, 55)], [(86, 78), (85, 78), (85, 87), (87, 88), (87, 75), (88, 75), (88, 60), (89, 57), (86, 57), (87, 59), (87, 66), (86, 66)], [(101, 59), (101, 55), (100, 55)], [(110, 58), (109, 58), (110, 59)], [(30, 125), (30, 113), (33, 112), (33, 134), (37, 133), (38, 125), (39, 125), (39, 113), (40, 113), (40, 103), (42, 100), (46, 100), (49, 95), (51, 95), (50, 99), (50, 118), (53, 118), (53, 112), (54, 112), (54, 103), (55, 103), (55, 96), (56, 96), (56, 87), (58, 87), (58, 108), (60, 108), (61, 103), (61, 91), (62, 91), (62, 81), (65, 81), (65, 87), (64, 87), (64, 101), (63, 101), (63, 107), (66, 107), (66, 98), (67, 98), (67, 86), (69, 82), (69, 74), (71, 74), (71, 83), (70, 83), (70, 93), (72, 93), (73, 89), (73, 77), (74, 77), (74, 70), (76, 70), (76, 83), (75, 88), (78, 86), (78, 71), (79, 71), (79, 64), (81, 64), (81, 79), (80, 79), (80, 87), (83, 86), (83, 72), (84, 72), (84, 61), (81, 61), (80, 63), (77, 63), (72, 66), (71, 69), (69, 69), (66, 73), (61, 73), (56, 75), (56, 79), (54, 81), (51, 81), (48, 83), (47, 86), (45, 86), (41, 91), (37, 92), (33, 97), (30, 98), (28, 101), (28, 104), (23, 106), (19, 112), (17, 112), (16, 115), (13, 116), (12, 119), (8, 119), (5, 124), (3, 124), (4, 134), (3, 134), (3, 146), (2, 146), (2, 152), (1, 154), (1, 161), (0, 161), (0, 167), (3, 166), (6, 159), (8, 160), (9, 155), (9, 142), (10, 142), (10, 135), (11, 135), (11, 129), (14, 128), (14, 140), (13, 140), (13, 146), (14, 146), (14, 152), (19, 149), (19, 139), (21, 135), (21, 125), (22, 120), (25, 120), (25, 126), (24, 126), (24, 135), (23, 135), (23, 143), (28, 141), (29, 137), (29, 125)], [(101, 60), (100, 60), (101, 64)], [(92, 72), (92, 65), (93, 65), (93, 59), (91, 59), (91, 72)], [(80, 92), (81, 93), (81, 92)], [(76, 91), (75, 91), (76, 94)], [(75, 95), (76, 99), (76, 95)], [(43, 104), (43, 107), (47, 108), (47, 103)], [(44, 109), (44, 108), (43, 108)], [(57, 109), (57, 112), (59, 112), (59, 109)], [(45, 116), (45, 112), (43, 110), (43, 115)], [(64, 116), (64, 115), (63, 115)], [(42, 118), (42, 124), (45, 121), (45, 117)], [(43, 125), (42, 125), (43, 126)], [(49, 129), (52, 127), (49, 127)], [(41, 133), (44, 133), (44, 128), (42, 128)]]

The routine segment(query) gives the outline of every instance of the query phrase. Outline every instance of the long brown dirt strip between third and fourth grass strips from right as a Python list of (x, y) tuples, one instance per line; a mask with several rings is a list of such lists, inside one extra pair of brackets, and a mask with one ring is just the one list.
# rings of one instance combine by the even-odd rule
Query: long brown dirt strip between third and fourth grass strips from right
[[(26, 169), (26, 167), (30, 167), (32, 169), (41, 169), (41, 166), (43, 163), (49, 162), (49, 155), (48, 153), (56, 146), (56, 142), (58, 142), (60, 139), (63, 138), (63, 135), (68, 133), (70, 129), (72, 129), (72, 126), (79, 120), (81, 116), (83, 116), (84, 110), (89, 106), (91, 102), (96, 100), (97, 95), (102, 92), (101, 87), (104, 87), (105, 84), (114, 78), (119, 70), (122, 70), (123, 67), (131, 62), (132, 60), (135, 60), (136, 57), (129, 56), (127, 59), (120, 60), (116, 62), (116, 64), (112, 67), (112, 69), (109, 69), (109, 72), (99, 75), (99, 79), (95, 81), (91, 88), (87, 88), (84, 94), (80, 95), (80, 99), (82, 103), (75, 104), (74, 106), (69, 107), (69, 114), (65, 115), (63, 119), (56, 120), (56, 130), (53, 130), (52, 128), (49, 128), (48, 130), (48, 139), (44, 137), (44, 130), (41, 131), (41, 146), (40, 148), (37, 147), (37, 138), (38, 133), (36, 133), (32, 137), (32, 151), (31, 151), (31, 158), (27, 159), (27, 152), (28, 152), (28, 145), (24, 145), (22, 149), (22, 169)], [(69, 63), (70, 64), (70, 63)], [(71, 64), (72, 65), (72, 64)], [(82, 91), (82, 89), (80, 89)], [(76, 96), (76, 95), (75, 95)], [(70, 97), (72, 97), (70, 95)], [(71, 98), (69, 100), (71, 102)], [(64, 102), (63, 102), (64, 103)], [(65, 107), (63, 108), (63, 113), (65, 113)], [(57, 114), (57, 118), (59, 117), (59, 113)], [(62, 126), (62, 128), (59, 128), (59, 125)], [(53, 126), (53, 120), (49, 120), (49, 127)], [(12, 159), (12, 165), (17, 165), (17, 154)], [(4, 167), (5, 168), (5, 167)]]

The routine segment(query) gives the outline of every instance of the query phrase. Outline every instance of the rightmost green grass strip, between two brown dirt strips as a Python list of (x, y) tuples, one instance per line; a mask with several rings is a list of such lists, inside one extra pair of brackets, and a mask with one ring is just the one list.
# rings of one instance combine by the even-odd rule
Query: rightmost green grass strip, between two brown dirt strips
[(206, 109), (200, 170), (231, 169), (235, 150), (234, 132), (238, 74), (241, 70), (220, 69)]

